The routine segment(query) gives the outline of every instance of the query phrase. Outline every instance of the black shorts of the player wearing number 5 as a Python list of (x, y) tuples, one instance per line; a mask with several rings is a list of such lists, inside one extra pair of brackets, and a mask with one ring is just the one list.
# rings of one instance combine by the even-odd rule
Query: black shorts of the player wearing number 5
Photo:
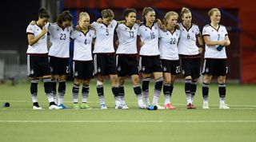
[(118, 74), (115, 55), (113, 53), (94, 54), (94, 73), (102, 76)]

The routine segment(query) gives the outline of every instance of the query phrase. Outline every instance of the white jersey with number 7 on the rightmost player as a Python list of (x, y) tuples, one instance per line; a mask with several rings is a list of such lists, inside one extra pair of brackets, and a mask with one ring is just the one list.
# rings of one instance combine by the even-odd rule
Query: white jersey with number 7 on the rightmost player
[[(209, 36), (210, 41), (223, 41), (227, 35), (226, 27), (219, 25), (218, 30), (213, 26), (206, 25), (202, 29), (202, 36)], [(218, 45), (206, 45), (205, 58), (221, 58), (226, 59), (225, 46), (221, 51), (217, 49)]]

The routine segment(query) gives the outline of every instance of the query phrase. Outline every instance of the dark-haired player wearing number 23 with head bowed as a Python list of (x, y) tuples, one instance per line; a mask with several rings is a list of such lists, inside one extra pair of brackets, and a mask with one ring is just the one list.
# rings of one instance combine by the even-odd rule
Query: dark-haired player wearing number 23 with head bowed
[(56, 102), (56, 83), (58, 81), (58, 106), (66, 108), (63, 105), (66, 92), (66, 74), (70, 72), (70, 34), (72, 31), (72, 15), (69, 11), (63, 11), (58, 15), (57, 23), (50, 24), (48, 33), (50, 34), (50, 69), (51, 81)]

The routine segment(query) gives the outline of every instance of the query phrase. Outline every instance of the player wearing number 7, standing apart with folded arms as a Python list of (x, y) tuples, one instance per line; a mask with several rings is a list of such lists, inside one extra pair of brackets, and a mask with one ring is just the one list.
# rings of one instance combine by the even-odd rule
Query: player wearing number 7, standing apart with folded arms
[(202, 108), (209, 108), (208, 93), (210, 81), (213, 76), (218, 77), (218, 93), (220, 97), (219, 108), (228, 109), (225, 104), (226, 97), (226, 74), (229, 68), (226, 61), (226, 46), (230, 45), (230, 39), (226, 31), (226, 27), (219, 24), (221, 13), (217, 8), (213, 8), (208, 12), (210, 16), (210, 24), (202, 29), (202, 36), (206, 42), (205, 61), (202, 69)]

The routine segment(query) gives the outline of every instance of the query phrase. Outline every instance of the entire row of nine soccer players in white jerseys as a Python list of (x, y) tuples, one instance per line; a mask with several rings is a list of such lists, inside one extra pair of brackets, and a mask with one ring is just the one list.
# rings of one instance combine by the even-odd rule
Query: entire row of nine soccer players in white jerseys
[[(107, 108), (103, 91), (106, 76), (110, 77), (115, 108), (128, 108), (123, 86), (126, 75), (129, 75), (133, 81), (138, 108), (147, 108), (149, 105), (156, 105), (158, 109), (175, 108), (170, 103), (170, 97), (174, 89), (175, 76), (180, 73), (179, 57), (185, 79), (186, 107), (196, 108), (193, 105), (193, 99), (201, 73), (203, 40), (206, 45), (202, 69), (204, 74), (202, 108), (209, 108), (208, 85), (214, 75), (218, 77), (219, 107), (229, 108), (225, 104), (225, 80), (228, 73), (225, 46), (230, 45), (230, 40), (226, 27), (219, 24), (220, 11), (213, 8), (208, 14), (210, 24), (203, 27), (202, 34), (198, 26), (191, 22), (192, 15), (187, 8), (182, 8), (181, 23), (178, 23), (178, 14), (174, 11), (166, 13), (161, 22), (155, 18), (155, 11), (150, 7), (143, 9), (142, 22), (136, 20), (137, 14), (134, 9), (124, 10), (125, 19), (121, 22), (114, 20), (114, 13), (110, 9), (102, 10), (102, 19), (92, 23), (90, 23), (90, 15), (81, 12), (78, 26), (73, 30), (72, 16), (69, 11), (62, 12), (58, 15), (56, 23), (49, 24), (50, 15), (46, 9), (41, 8), (38, 21), (30, 24), (26, 30), (29, 41), (27, 65), (28, 75), (31, 77), (30, 93), (33, 108), (42, 109), (37, 99), (40, 77), (44, 81), (45, 93), (50, 102), (49, 108), (66, 108), (63, 105), (63, 99), (66, 92), (66, 73), (69, 71), (70, 38), (74, 39), (72, 89), (74, 108), (90, 108), (87, 99), (90, 79), (94, 75), (97, 78), (97, 93), (102, 109)], [(118, 34), (116, 51), (114, 50), (114, 31)], [(47, 33), (50, 34), (52, 44), (49, 53)], [(139, 52), (137, 35), (141, 43)], [(139, 53), (139, 61), (136, 58), (137, 53)], [(142, 87), (138, 77), (139, 72), (142, 73)], [(153, 101), (150, 103), (149, 83), (152, 74), (155, 85)], [(82, 84), (82, 103), (78, 104), (80, 84)], [(164, 106), (158, 105), (162, 89), (165, 97)]]

